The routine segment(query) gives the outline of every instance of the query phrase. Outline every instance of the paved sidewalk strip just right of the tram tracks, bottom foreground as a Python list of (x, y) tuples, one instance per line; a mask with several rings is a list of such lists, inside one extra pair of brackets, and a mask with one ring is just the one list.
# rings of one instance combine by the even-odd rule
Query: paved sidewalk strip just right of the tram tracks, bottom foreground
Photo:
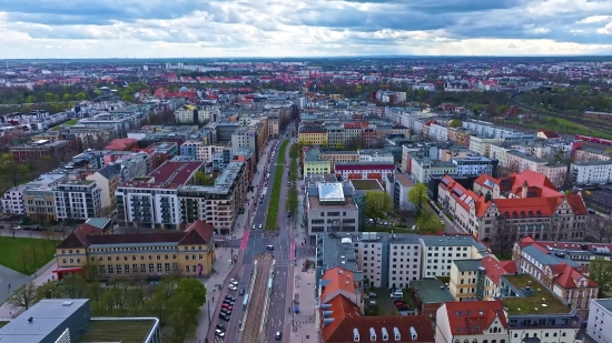
[(315, 326), (315, 271), (302, 271), (302, 264), (305, 260), (297, 261), (294, 266), (294, 294), (299, 313), (292, 311), (292, 334), (289, 343), (316, 343), (317, 331)]

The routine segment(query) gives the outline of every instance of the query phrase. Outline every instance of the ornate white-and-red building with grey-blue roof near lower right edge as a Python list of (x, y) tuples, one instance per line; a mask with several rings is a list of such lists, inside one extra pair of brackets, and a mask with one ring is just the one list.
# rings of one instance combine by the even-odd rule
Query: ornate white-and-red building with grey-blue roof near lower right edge
[[(599, 284), (589, 278), (589, 268), (566, 258), (564, 244), (543, 249), (531, 236), (514, 243), (512, 259), (521, 273), (529, 273), (586, 317), (589, 301), (596, 299)], [(565, 244), (566, 245), (566, 244)]]

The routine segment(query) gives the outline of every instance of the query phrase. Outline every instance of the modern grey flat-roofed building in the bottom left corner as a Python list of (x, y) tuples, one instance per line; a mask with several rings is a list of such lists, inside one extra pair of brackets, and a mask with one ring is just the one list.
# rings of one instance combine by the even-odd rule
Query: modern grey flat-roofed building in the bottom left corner
[(28, 343), (92, 342), (100, 337), (121, 342), (127, 332), (137, 342), (161, 343), (156, 317), (91, 317), (88, 299), (43, 299), (0, 327), (0, 337)]

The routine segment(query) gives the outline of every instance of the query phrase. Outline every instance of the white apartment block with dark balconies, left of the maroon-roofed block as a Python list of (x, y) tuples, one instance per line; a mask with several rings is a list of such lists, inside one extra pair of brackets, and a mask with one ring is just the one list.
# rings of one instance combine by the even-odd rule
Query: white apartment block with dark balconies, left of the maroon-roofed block
[(87, 220), (100, 216), (102, 190), (96, 181), (65, 181), (53, 188), (59, 220)]

